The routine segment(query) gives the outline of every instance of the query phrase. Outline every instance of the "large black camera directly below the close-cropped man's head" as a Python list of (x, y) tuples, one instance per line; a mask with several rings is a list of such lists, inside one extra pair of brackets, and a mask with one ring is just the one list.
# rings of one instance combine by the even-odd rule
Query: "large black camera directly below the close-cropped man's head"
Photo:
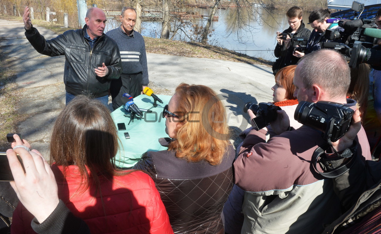
[(294, 118), (299, 123), (324, 133), (325, 140), (336, 142), (351, 124), (353, 110), (336, 102), (299, 102)]

